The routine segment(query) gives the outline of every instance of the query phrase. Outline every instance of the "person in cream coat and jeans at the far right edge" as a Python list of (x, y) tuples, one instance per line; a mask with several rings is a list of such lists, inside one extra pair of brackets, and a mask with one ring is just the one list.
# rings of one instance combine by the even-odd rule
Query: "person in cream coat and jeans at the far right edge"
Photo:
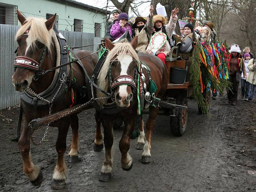
[(245, 100), (251, 101), (254, 96), (255, 87), (256, 87), (256, 62), (255, 59), (251, 59), (248, 63), (247, 68), (249, 69), (249, 73), (246, 79), (246, 92), (245, 92)]

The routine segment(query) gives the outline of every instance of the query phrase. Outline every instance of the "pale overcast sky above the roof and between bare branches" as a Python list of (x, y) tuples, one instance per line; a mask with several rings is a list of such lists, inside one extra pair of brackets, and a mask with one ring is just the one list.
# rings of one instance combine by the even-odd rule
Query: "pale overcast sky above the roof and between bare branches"
[[(98, 8), (103, 8), (103, 7), (107, 6), (107, 0), (75, 0), (75, 1), (87, 4), (87, 5), (91, 5), (94, 7), (98, 7)], [(118, 0), (118, 1), (123, 2), (124, 0)], [(135, 0), (135, 2), (140, 2), (140, 0)], [(108, 11), (112, 11), (113, 9), (116, 9), (116, 7), (112, 8), (113, 6), (114, 6), (114, 4), (112, 4), (112, 2), (109, 1)], [(140, 12), (141, 16), (147, 17), (149, 15), (149, 6), (150, 6), (150, 3), (144, 3), (143, 5), (141, 5), (139, 7), (139, 12)], [(132, 13), (132, 11), (130, 11), (129, 16), (132, 16), (132, 15), (136, 16), (134, 13)]]

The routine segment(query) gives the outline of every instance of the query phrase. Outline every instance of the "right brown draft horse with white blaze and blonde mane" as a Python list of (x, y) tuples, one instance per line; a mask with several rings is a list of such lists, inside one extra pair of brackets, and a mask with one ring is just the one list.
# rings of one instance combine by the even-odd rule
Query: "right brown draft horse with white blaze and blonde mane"
[[(162, 99), (164, 93), (167, 89), (168, 74), (165, 65), (159, 60), (156, 56), (146, 53), (136, 53), (135, 49), (138, 45), (137, 37), (134, 37), (131, 43), (116, 43), (115, 45), (112, 42), (105, 38), (106, 45), (109, 48), (109, 52), (105, 63), (102, 66), (102, 69), (98, 78), (98, 86), (100, 86), (105, 91), (110, 91), (110, 75), (109, 70), (111, 70), (111, 78), (114, 80), (118, 76), (130, 76), (134, 78), (136, 67), (138, 66), (139, 58), (151, 69), (151, 77), (155, 81), (158, 89), (155, 93), (155, 96), (159, 99)], [(143, 73), (147, 74), (145, 69)], [(108, 76), (109, 75), (109, 76)], [(149, 87), (148, 76), (146, 76), (146, 84)], [(106, 79), (108, 77), (108, 80)], [(134, 129), (134, 124), (137, 117), (137, 107), (138, 100), (136, 95), (132, 93), (132, 86), (127, 84), (122, 84), (112, 90), (115, 96), (115, 102), (119, 107), (124, 108), (120, 113), (124, 118), (125, 129), (122, 135), (122, 138), (119, 142), (119, 149), (122, 154), (121, 166), (124, 170), (129, 171), (132, 168), (132, 157), (129, 155), (130, 148), (130, 136)], [(103, 95), (100, 92), (97, 92), (98, 97)], [(144, 98), (143, 98), (144, 99)], [(106, 102), (106, 100), (104, 101)], [(104, 104), (99, 102), (100, 105)], [(151, 133), (154, 128), (155, 118), (157, 116), (159, 107), (149, 107), (149, 117), (146, 124), (147, 136), (146, 142), (145, 134), (143, 131), (144, 123), (143, 121), (140, 124), (140, 137), (137, 142), (137, 148), (143, 147), (141, 163), (150, 163), (150, 151), (151, 151)], [(99, 115), (99, 112), (97, 112)], [(96, 116), (97, 116), (96, 114)], [(112, 153), (111, 148), (113, 145), (113, 121), (116, 118), (115, 115), (102, 114), (100, 120), (104, 128), (104, 145), (106, 149), (105, 160), (101, 168), (100, 181), (109, 181), (112, 174)], [(96, 117), (97, 119), (97, 117)], [(99, 135), (97, 135), (99, 134)], [(101, 136), (99, 127), (97, 127), (97, 132), (95, 136), (94, 144), (102, 143), (102, 140), (99, 140)], [(145, 144), (144, 144), (145, 143)]]

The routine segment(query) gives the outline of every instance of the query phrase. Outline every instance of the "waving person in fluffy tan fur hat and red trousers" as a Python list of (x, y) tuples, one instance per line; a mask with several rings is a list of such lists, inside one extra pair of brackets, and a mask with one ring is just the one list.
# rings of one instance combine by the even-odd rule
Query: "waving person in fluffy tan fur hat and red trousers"
[[(168, 55), (169, 52), (170, 52), (170, 44), (169, 44), (168, 40), (170, 38), (172, 38), (172, 33), (173, 33), (174, 29), (175, 29), (176, 21), (178, 20), (178, 16), (177, 16), (178, 12), (179, 12), (179, 8), (175, 8), (174, 10), (172, 10), (171, 19), (170, 19), (170, 21), (169, 21), (169, 23), (167, 25), (166, 25), (166, 20), (165, 20), (165, 18), (162, 15), (155, 15), (153, 17), (153, 22), (154, 22), (155, 30), (153, 30), (152, 35), (154, 35), (158, 31), (160, 31), (160, 32), (165, 33), (165, 35), (167, 36), (167, 41), (155, 53), (155, 55), (160, 60), (162, 60), (164, 64), (165, 64), (166, 55)], [(154, 54), (152, 52), (151, 44), (148, 44), (146, 52), (149, 53), (149, 54)]]

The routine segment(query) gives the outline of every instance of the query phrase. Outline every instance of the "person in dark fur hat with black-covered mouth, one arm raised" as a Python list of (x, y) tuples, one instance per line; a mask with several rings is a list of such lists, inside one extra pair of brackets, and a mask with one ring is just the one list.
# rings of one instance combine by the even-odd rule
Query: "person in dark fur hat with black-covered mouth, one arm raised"
[(153, 5), (149, 8), (149, 17), (146, 24), (146, 20), (143, 17), (137, 17), (132, 26), (133, 36), (138, 36), (138, 46), (137, 50), (139, 52), (146, 52), (150, 36), (152, 34), (154, 23), (153, 23)]

